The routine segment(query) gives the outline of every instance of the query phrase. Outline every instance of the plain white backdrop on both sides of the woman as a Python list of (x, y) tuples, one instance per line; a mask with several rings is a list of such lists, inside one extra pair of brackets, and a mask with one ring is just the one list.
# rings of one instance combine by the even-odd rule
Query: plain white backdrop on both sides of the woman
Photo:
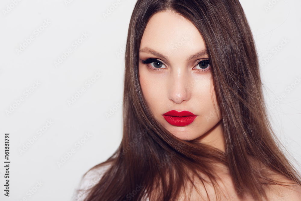
[[(11, 161), (10, 197), (1, 190), (0, 199), (70, 200), (81, 176), (112, 155), (121, 141), (122, 109), (114, 106), (119, 106), (123, 97), (123, 48), (136, 1), (121, 0), (106, 18), (103, 13), (117, 0), (12, 2), (0, 3), (0, 190), (5, 181), (6, 132), (10, 133)], [(301, 84), (294, 85), (301, 76), (301, 2), (240, 2), (256, 40), (273, 128), (289, 154), (301, 162)], [(10, 5), (13, 8), (4, 13)], [(44, 20), (50, 23), (41, 27)], [(36, 29), (43, 29), (38, 36)], [(75, 49), (72, 44), (82, 33), (88, 36)], [(34, 40), (17, 52), (30, 36)], [(287, 42), (281, 45), (283, 40)], [(281, 49), (275, 52), (277, 46)], [(63, 62), (55, 66), (54, 61), (58, 62), (69, 48), (70, 55), (63, 56)], [(102, 75), (88, 87), (85, 83), (96, 71)], [(37, 87), (36, 81), (40, 83)], [(33, 85), (36, 88), (31, 88)], [(293, 90), (288, 90), (288, 86)], [(82, 87), (85, 92), (69, 105), (67, 101)], [(26, 90), (33, 91), (26, 97)], [(281, 94), (284, 98), (277, 101)], [(21, 97), (24, 101), (16, 105)], [(7, 114), (13, 105), (14, 111)], [(117, 110), (107, 117), (113, 108)], [(46, 127), (50, 120), (54, 123)], [(43, 128), (44, 133), (39, 135), (37, 130)], [(85, 133), (91, 137), (82, 140)], [(80, 140), (84, 143), (76, 145)], [(26, 143), (30, 146), (20, 152)], [(71, 149), (75, 150), (72, 156), (57, 165)], [(29, 193), (40, 181), (42, 186), (34, 194)]]

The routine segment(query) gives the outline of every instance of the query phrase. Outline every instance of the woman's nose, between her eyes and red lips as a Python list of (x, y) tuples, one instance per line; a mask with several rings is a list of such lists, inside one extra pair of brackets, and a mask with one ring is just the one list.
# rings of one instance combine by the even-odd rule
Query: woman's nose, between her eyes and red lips
[(189, 87), (189, 75), (185, 72), (174, 72), (169, 77), (169, 93), (168, 99), (176, 104), (180, 104), (183, 101), (188, 101), (191, 98), (191, 89)]

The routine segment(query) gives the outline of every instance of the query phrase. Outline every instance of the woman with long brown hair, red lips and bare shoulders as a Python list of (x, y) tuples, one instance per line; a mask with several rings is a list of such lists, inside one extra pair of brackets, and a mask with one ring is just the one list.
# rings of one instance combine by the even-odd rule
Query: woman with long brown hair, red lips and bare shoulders
[(261, 87), (238, 0), (138, 0), (123, 139), (75, 200), (301, 200)]

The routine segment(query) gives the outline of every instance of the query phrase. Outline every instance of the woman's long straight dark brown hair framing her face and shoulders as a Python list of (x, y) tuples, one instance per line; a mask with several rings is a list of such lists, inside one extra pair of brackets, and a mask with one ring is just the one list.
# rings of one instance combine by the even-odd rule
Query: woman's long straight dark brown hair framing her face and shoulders
[[(140, 42), (150, 17), (166, 10), (190, 20), (206, 43), (225, 152), (174, 137), (146, 104), (138, 76)], [(267, 170), (301, 185), (299, 174), (275, 143), (253, 35), (238, 0), (138, 0), (129, 24), (125, 59), (123, 139), (106, 162), (93, 167), (111, 164), (86, 201), (141, 200), (145, 196), (176, 200), (187, 182), (193, 185), (191, 173), (205, 188), (208, 182), (213, 184), (216, 199), (222, 199), (212, 169), (216, 163), (227, 166), (240, 196), (249, 193), (256, 200), (267, 199), (265, 185), (278, 184), (265, 177)], [(256, 169), (251, 158), (265, 168)], [(208, 193), (203, 199), (210, 200)]]

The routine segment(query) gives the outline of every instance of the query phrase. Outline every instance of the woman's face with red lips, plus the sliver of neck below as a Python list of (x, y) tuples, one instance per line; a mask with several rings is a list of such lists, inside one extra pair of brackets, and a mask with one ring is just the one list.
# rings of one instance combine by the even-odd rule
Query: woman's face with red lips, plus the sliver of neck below
[(139, 49), (139, 79), (151, 112), (176, 137), (224, 150), (211, 68), (190, 21), (172, 11), (151, 17)]

